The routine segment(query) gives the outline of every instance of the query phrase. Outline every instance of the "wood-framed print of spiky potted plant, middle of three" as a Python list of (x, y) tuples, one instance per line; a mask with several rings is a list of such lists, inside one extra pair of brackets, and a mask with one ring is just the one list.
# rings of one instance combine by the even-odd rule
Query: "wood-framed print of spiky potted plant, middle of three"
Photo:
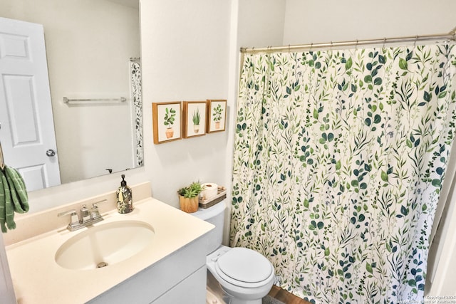
[(182, 135), (184, 138), (206, 135), (206, 101), (184, 101), (184, 122)]

